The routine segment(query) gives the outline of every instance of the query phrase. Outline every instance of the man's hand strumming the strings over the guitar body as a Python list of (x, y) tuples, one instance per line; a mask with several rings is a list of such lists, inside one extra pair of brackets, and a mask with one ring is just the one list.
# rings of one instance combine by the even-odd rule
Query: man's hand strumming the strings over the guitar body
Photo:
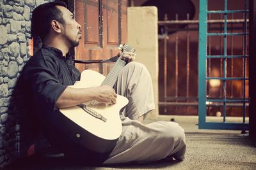
[(117, 94), (115, 90), (110, 87), (109, 85), (101, 85), (96, 88), (97, 89), (97, 97), (96, 101), (99, 103), (106, 103), (106, 104), (115, 104)]

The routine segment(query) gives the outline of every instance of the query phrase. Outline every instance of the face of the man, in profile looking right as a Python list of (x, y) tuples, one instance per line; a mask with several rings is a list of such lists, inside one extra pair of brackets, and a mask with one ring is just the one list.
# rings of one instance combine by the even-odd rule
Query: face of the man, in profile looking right
[(63, 13), (63, 20), (65, 20), (65, 25), (63, 25), (64, 38), (67, 39), (66, 43), (68, 46), (77, 46), (79, 44), (79, 39), (81, 39), (81, 25), (78, 24), (74, 18), (73, 13), (71, 13), (67, 8), (63, 6), (56, 6)]

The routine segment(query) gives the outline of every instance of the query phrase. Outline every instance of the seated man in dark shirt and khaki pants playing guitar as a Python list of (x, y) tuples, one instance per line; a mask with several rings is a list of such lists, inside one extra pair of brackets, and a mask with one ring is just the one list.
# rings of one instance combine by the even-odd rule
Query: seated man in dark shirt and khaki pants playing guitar
[[(174, 157), (184, 159), (186, 150), (182, 127), (174, 122), (144, 125), (145, 115), (154, 110), (150, 74), (145, 66), (132, 62), (132, 53), (124, 53), (127, 66), (119, 74), (116, 85), (72, 89), (80, 73), (68, 51), (79, 44), (81, 25), (64, 3), (46, 3), (33, 11), (31, 32), (42, 39), (42, 48), (29, 59), (20, 76), (30, 106), (29, 117), (44, 132), (52, 145), (65, 155), (94, 164), (148, 162)], [(116, 93), (129, 99), (120, 113), (122, 134), (108, 153), (81, 148), (63, 134), (60, 108), (88, 101), (115, 104)], [(36, 130), (37, 131), (37, 130)]]

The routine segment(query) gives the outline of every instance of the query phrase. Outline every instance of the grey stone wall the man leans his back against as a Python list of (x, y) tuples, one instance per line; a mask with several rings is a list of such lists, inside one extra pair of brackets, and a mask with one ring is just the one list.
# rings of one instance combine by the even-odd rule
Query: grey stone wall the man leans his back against
[(0, 168), (19, 156), (19, 110), (12, 108), (10, 99), (30, 57), (31, 11), (47, 1), (0, 0)]

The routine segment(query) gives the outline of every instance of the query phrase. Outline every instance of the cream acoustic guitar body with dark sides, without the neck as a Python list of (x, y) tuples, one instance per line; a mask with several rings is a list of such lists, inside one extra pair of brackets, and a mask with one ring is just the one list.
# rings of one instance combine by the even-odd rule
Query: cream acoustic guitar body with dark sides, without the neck
[[(96, 71), (84, 70), (81, 73), (81, 80), (70, 87), (98, 87), (105, 78), (105, 76)], [(75, 140), (78, 141), (80, 145), (90, 150), (103, 153), (111, 150), (115, 146), (116, 140), (120, 137), (122, 132), (120, 110), (122, 110), (127, 103), (128, 99), (120, 95), (116, 98), (116, 104), (109, 106), (100, 103), (93, 105), (91, 103), (84, 103), (93, 111), (96, 111), (106, 118), (106, 122), (86, 113), (86, 111), (79, 106), (61, 108), (60, 112), (74, 122), (74, 127), (76, 127), (77, 131), (73, 132), (72, 138), (77, 138)]]

